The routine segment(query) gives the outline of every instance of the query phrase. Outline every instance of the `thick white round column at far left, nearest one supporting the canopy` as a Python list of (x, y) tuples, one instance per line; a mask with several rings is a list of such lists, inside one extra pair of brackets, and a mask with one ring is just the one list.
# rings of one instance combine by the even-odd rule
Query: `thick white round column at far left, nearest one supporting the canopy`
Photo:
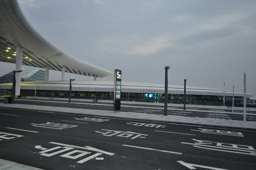
[[(17, 46), (16, 48), (16, 71), (22, 70), (22, 53), (23, 48)], [(20, 81), (21, 81), (21, 72), (16, 72), (16, 87), (15, 87), (15, 96), (20, 95)]]

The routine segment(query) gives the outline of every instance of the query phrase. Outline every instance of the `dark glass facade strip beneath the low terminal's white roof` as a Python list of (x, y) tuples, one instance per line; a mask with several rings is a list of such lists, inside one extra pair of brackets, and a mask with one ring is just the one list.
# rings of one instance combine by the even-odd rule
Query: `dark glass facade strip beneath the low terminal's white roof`
[[(6, 89), (8, 94), (11, 94), (12, 89)], [(20, 95), (34, 96), (35, 90), (20, 89)], [(37, 97), (51, 98), (69, 98), (69, 91), (58, 90), (36, 90)], [(92, 92), (92, 91), (72, 91), (72, 99), (94, 99), (98, 100), (114, 100), (113, 92)], [(164, 103), (164, 94), (162, 93), (130, 93), (121, 92), (121, 101), (134, 101), (134, 102), (151, 102), (151, 103)], [(231, 105), (233, 96), (225, 96), (225, 105)], [(183, 94), (168, 94), (168, 103), (183, 104)], [(234, 103), (243, 103), (243, 97), (234, 96)], [(210, 96), (210, 95), (186, 95), (186, 104), (189, 105), (212, 105), (222, 106), (223, 96)]]

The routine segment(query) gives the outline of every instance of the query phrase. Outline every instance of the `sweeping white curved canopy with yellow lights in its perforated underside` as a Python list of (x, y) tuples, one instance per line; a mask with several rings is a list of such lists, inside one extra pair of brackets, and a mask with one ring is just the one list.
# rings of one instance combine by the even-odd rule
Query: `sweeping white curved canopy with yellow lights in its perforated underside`
[(96, 76), (112, 76), (111, 71), (86, 63), (47, 41), (27, 21), (17, 0), (0, 0), (0, 61), (16, 63), (16, 47), (23, 48), (22, 64), (50, 70)]

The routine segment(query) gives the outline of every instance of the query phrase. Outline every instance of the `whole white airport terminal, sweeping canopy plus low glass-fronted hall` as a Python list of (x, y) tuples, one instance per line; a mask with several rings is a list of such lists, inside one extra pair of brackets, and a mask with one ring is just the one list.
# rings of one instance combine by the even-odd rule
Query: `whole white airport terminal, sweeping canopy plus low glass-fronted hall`
[[(0, 61), (15, 63), (16, 71), (22, 65), (43, 68), (44, 81), (21, 82), (21, 73), (16, 72), (15, 95), (38, 98), (65, 99), (69, 96), (70, 81), (65, 80), (65, 72), (93, 77), (91, 81), (72, 81), (73, 100), (113, 100), (114, 82), (96, 80), (112, 76), (113, 72), (79, 60), (46, 40), (29, 23), (17, 0), (0, 0)], [(61, 81), (48, 81), (49, 70), (61, 71)], [(114, 70), (114, 68), (113, 68)], [(0, 89), (11, 94), (12, 83), (0, 85)], [(235, 103), (243, 103), (243, 92), (234, 93)], [(246, 94), (251, 98), (252, 94)], [(134, 102), (164, 103), (164, 84), (122, 82), (121, 100)], [(201, 87), (186, 87), (186, 103), (195, 105), (218, 105), (230, 103), (233, 91), (223, 91)], [(183, 103), (184, 87), (168, 85), (168, 103)]]

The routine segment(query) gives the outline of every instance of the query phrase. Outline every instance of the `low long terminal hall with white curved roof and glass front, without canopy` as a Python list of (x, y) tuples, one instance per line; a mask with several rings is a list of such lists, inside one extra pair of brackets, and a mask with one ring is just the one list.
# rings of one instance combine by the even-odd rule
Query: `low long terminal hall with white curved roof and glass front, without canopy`
[[(1, 89), (12, 91), (12, 83), (1, 84)], [(70, 81), (43, 81), (36, 84), (36, 97), (68, 100)], [(114, 81), (72, 81), (72, 100), (102, 102), (114, 99)], [(34, 96), (35, 83), (22, 82), (21, 95)], [(233, 91), (225, 91), (225, 105), (233, 102)], [(234, 103), (243, 103), (243, 92), (234, 92)], [(247, 97), (252, 97), (247, 93)], [(65, 99), (66, 98), (66, 99)], [(122, 81), (121, 101), (164, 103), (164, 84)], [(184, 86), (168, 84), (168, 103), (184, 103)], [(186, 86), (186, 104), (223, 106), (223, 90)]]

